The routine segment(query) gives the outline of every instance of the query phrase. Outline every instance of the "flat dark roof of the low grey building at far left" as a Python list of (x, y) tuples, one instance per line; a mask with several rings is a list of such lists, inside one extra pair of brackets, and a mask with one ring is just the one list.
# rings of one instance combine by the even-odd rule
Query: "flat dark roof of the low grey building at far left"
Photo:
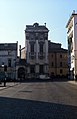
[(17, 50), (17, 43), (1, 43), (0, 50)]

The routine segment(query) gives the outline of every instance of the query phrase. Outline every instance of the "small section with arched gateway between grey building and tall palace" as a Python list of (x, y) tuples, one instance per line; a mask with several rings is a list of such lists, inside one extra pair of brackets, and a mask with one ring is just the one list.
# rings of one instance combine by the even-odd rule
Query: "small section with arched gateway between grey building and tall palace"
[(27, 78), (27, 64), (26, 64), (26, 51), (25, 47), (21, 48), (19, 45), (19, 56), (16, 60), (16, 79), (24, 80)]

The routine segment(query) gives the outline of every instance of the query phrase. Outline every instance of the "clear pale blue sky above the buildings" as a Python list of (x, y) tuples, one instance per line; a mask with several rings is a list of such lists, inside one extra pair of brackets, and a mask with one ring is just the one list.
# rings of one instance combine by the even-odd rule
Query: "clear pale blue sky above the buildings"
[(26, 25), (46, 23), (48, 39), (67, 49), (66, 24), (77, 0), (0, 0), (0, 43), (25, 46)]

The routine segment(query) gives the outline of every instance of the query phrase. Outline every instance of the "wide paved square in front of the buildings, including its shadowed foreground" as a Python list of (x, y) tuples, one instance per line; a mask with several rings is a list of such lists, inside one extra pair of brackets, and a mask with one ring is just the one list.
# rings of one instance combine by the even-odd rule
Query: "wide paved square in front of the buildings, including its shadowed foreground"
[(1, 90), (0, 119), (77, 119), (77, 85), (28, 82)]

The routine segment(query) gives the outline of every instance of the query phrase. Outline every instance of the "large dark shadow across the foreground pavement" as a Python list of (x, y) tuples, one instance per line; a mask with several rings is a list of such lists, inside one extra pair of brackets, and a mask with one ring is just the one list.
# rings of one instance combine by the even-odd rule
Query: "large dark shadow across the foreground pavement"
[(0, 119), (77, 119), (77, 106), (0, 97)]

